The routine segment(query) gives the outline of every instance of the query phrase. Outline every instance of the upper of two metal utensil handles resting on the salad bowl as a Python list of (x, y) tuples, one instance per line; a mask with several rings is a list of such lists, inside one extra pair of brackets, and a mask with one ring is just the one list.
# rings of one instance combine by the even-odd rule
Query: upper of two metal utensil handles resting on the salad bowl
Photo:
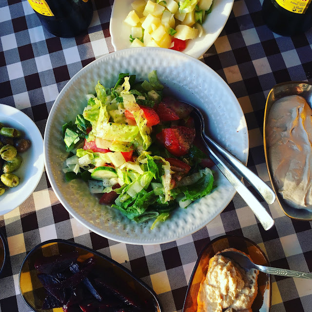
[(205, 136), (205, 139), (207, 139), (207, 141), (220, 153), (220, 155), (223, 156), (235, 168), (235, 170), (254, 187), (254, 189), (268, 204), (273, 204), (275, 201), (275, 194), (262, 179), (255, 175), (250, 169), (248, 169), (210, 137), (207, 137), (205, 134), (203, 135)]

